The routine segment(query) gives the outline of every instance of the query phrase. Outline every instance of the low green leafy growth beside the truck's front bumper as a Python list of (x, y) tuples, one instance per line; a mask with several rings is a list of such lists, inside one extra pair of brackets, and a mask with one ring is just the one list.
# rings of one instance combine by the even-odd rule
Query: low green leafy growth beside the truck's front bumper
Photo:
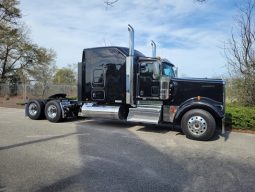
[(226, 106), (226, 125), (231, 128), (255, 130), (255, 107), (228, 104)]

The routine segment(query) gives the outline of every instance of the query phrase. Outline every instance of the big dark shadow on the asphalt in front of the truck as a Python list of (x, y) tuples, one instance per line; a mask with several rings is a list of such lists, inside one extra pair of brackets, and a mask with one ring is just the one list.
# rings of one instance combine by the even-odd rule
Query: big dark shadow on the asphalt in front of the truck
[[(104, 129), (96, 123), (103, 123)], [(96, 123), (77, 125), (77, 132), (91, 135), (77, 136), (82, 166), (74, 174), (39, 186), (37, 192), (183, 191), (191, 186), (192, 172), (183, 168), (186, 162), (140, 140), (126, 130), (132, 127), (129, 123), (120, 131), (115, 131), (120, 122)]]

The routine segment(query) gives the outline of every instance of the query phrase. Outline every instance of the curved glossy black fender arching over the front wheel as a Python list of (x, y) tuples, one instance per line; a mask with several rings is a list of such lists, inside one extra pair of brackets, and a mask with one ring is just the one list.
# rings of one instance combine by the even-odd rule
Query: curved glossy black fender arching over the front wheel
[(191, 109), (203, 109), (210, 112), (215, 119), (224, 118), (223, 104), (209, 98), (191, 98), (183, 102), (178, 108), (174, 122), (180, 121), (182, 116)]

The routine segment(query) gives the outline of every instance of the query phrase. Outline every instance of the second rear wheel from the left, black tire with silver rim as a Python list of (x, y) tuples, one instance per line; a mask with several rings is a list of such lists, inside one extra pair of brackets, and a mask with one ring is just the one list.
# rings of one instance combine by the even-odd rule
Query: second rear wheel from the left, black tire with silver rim
[(53, 100), (46, 103), (45, 117), (48, 121), (57, 123), (62, 120), (62, 110), (59, 102)]

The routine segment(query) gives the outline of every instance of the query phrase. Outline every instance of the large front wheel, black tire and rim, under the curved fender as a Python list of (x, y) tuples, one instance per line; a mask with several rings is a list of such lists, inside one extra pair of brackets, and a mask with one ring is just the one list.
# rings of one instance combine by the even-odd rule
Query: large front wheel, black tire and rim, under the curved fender
[(208, 111), (192, 109), (183, 115), (181, 129), (189, 139), (207, 141), (215, 132), (216, 122)]

